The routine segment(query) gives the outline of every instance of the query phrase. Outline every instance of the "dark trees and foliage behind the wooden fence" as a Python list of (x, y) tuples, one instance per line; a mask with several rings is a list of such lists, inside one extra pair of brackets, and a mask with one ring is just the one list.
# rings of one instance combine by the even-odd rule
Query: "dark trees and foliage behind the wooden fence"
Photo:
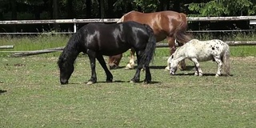
[[(0, 20), (120, 18), (131, 10), (146, 13), (174, 10), (193, 17), (256, 15), (256, 0), (0, 0), (0, 3)], [(244, 22), (240, 24), (244, 26)], [(38, 26), (30, 27), (33, 29), (32, 27)], [(203, 24), (195, 27), (198, 26)], [(213, 28), (218, 28), (218, 25), (216, 26)], [(16, 31), (16, 26), (7, 27), (12, 28), (9, 30)], [(61, 27), (72, 28), (67, 25)], [(204, 27), (209, 28), (209, 23)], [(228, 27), (236, 28), (237, 25), (231, 24)], [(8, 28), (4, 29), (8, 30)]]

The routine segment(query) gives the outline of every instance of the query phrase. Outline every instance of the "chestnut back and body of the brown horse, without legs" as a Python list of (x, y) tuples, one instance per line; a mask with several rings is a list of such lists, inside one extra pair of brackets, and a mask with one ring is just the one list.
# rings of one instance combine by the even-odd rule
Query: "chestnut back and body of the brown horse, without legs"
[(166, 36), (172, 36), (177, 27), (180, 30), (186, 30), (187, 21), (186, 14), (175, 11), (159, 11), (154, 13), (141, 13), (138, 11), (130, 11), (124, 14), (120, 22), (135, 21), (149, 25), (154, 30), (158, 42), (162, 41)]

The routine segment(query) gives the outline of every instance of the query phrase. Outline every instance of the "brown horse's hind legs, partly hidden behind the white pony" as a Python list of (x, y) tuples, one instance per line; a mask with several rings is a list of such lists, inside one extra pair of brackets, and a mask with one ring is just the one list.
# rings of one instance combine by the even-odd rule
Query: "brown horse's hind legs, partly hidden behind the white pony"
[[(171, 37), (167, 37), (167, 42), (169, 44), (170, 47), (170, 55), (174, 54), (175, 50), (176, 50), (176, 46), (175, 46), (175, 38), (171, 38)], [(178, 63), (178, 67), (181, 70), (185, 70), (186, 69), (186, 63), (185, 60), (182, 60), (181, 62)], [(167, 64), (166, 66), (166, 70), (170, 70), (169, 65)]]

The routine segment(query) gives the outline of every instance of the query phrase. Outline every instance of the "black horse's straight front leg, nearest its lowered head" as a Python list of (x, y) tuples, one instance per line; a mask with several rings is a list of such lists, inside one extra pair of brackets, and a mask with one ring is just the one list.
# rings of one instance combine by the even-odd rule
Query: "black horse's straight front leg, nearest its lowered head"
[(96, 76), (96, 64), (95, 64), (95, 58), (96, 58), (96, 53), (93, 50), (88, 50), (87, 54), (89, 56), (90, 59), (90, 70), (91, 70), (91, 77), (89, 82), (87, 82), (87, 84), (93, 84), (95, 82), (97, 82), (97, 76)]

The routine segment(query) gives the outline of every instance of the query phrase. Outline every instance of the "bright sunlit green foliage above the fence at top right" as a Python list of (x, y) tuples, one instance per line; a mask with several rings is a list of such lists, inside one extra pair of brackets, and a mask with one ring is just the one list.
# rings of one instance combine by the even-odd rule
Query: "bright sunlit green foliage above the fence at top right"
[(210, 0), (186, 4), (193, 16), (240, 16), (254, 15), (254, 0)]

